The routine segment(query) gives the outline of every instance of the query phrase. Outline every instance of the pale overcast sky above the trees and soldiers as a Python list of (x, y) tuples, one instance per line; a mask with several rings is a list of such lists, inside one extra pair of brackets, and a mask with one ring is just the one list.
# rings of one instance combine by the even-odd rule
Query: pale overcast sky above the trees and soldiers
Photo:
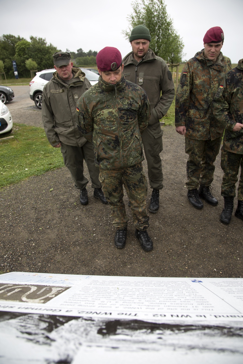
[[(122, 56), (131, 46), (122, 35), (128, 28), (131, 0), (30, 1), (0, 0), (0, 35), (13, 34), (46, 38), (58, 49), (77, 52), (116, 47)], [(238, 63), (243, 58), (243, 0), (165, 0), (174, 27), (183, 38), (184, 59), (203, 48), (205, 32), (219, 26), (224, 32), (222, 52)]]

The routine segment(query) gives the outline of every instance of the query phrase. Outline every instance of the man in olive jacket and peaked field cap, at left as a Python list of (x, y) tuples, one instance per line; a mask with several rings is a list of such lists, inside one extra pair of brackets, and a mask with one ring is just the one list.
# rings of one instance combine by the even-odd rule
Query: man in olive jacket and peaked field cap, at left
[(107, 203), (94, 165), (92, 147), (86, 143), (75, 122), (76, 103), (90, 88), (90, 82), (79, 68), (72, 67), (70, 53), (56, 52), (53, 59), (56, 72), (44, 86), (42, 94), (42, 121), (47, 139), (54, 148), (60, 147), (64, 164), (75, 187), (80, 190), (81, 204), (88, 203), (86, 185), (89, 182), (83, 175), (83, 160), (87, 163), (94, 197)]

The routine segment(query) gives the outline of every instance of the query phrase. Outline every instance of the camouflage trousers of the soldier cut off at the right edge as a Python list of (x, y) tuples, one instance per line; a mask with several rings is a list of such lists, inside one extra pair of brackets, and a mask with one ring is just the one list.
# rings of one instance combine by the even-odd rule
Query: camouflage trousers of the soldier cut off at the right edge
[(238, 200), (243, 201), (243, 154), (231, 153), (222, 147), (221, 168), (224, 172), (221, 185), (221, 195), (235, 197), (235, 184), (240, 167), (240, 180), (238, 186)]

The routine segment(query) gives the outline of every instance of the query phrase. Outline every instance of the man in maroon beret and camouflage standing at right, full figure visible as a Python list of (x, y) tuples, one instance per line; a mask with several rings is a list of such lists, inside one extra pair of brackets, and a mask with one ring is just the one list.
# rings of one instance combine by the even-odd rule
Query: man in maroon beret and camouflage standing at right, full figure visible
[(185, 135), (185, 153), (189, 155), (187, 197), (196, 209), (203, 208), (200, 198), (213, 206), (218, 203), (211, 183), (224, 128), (213, 116), (212, 100), (224, 75), (231, 70), (230, 59), (220, 52), (223, 40), (220, 27), (207, 31), (205, 48), (185, 64), (176, 94), (176, 131)]

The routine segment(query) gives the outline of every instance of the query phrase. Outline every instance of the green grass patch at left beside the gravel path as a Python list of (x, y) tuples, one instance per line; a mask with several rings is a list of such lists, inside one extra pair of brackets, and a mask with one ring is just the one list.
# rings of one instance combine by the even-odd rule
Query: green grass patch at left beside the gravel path
[(0, 151), (0, 187), (64, 166), (60, 148), (50, 145), (42, 128), (14, 124), (11, 134), (0, 134)]

